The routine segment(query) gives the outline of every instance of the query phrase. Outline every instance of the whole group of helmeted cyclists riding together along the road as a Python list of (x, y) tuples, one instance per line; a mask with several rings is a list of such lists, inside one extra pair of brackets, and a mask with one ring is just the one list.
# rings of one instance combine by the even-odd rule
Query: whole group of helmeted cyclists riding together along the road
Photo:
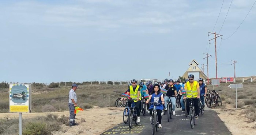
[[(128, 84), (128, 90), (125, 94), (129, 95), (131, 99), (128, 100), (128, 105), (131, 107), (131, 104), (135, 104), (136, 112), (137, 112), (137, 122), (140, 122), (140, 112), (141, 112), (141, 100), (142, 96), (149, 94), (149, 98), (146, 100), (146, 104), (148, 106), (148, 113), (152, 114), (153, 105), (149, 105), (148, 103), (161, 103), (162, 105), (157, 105), (157, 115), (158, 115), (158, 128), (162, 128), (161, 120), (162, 120), (162, 111), (167, 110), (167, 100), (170, 97), (173, 108), (173, 115), (175, 115), (176, 108), (176, 99), (179, 100), (180, 106), (182, 108), (182, 112), (185, 112), (184, 100), (192, 99), (193, 104), (195, 106), (195, 119), (199, 118), (199, 105), (198, 99), (200, 98), (202, 101), (202, 105), (204, 107), (204, 97), (207, 93), (207, 86), (203, 83), (203, 79), (199, 78), (198, 81), (194, 80), (195, 76), (190, 74), (188, 75), (188, 79), (185, 82), (181, 82), (181, 80), (174, 81), (173, 79), (165, 79), (164, 82), (158, 82), (152, 84), (152, 82), (147, 82), (146, 85), (143, 82), (140, 82), (137, 85), (137, 80), (131, 80), (131, 83)], [(161, 90), (167, 90), (166, 94), (163, 94)], [(185, 93), (185, 94), (184, 94)], [(121, 100), (123, 100), (122, 98)], [(187, 102), (187, 114), (189, 114), (189, 103)], [(152, 116), (150, 117), (150, 120)]]

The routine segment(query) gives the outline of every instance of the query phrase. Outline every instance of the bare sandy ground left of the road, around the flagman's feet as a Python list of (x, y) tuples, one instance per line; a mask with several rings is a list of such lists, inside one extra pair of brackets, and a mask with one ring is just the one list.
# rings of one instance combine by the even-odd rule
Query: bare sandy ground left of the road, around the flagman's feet
[[(79, 111), (76, 115), (76, 123), (79, 126), (65, 126), (63, 125), (64, 132), (53, 131), (53, 135), (99, 135), (123, 122), (124, 108), (92, 108), (84, 111)], [(69, 116), (69, 112), (52, 112), (59, 115)], [(22, 118), (31, 118), (33, 116), (45, 115), (47, 113), (23, 113)], [(0, 113), (0, 118), (8, 116), (10, 118), (19, 118), (18, 113)], [(85, 122), (83, 121), (85, 120)]]

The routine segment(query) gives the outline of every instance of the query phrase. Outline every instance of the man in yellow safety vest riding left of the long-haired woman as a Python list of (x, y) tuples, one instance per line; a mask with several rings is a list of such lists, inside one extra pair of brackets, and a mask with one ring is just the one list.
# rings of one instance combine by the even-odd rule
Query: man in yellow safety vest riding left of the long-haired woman
[[(127, 95), (130, 94), (131, 99), (134, 99), (133, 102), (135, 102), (135, 108), (137, 111), (137, 122), (140, 122), (140, 102), (141, 102), (141, 93), (140, 93), (140, 86), (137, 85), (137, 80), (132, 79), (131, 80), (132, 85), (127, 90)], [(132, 102), (128, 101), (129, 107), (131, 107)]]

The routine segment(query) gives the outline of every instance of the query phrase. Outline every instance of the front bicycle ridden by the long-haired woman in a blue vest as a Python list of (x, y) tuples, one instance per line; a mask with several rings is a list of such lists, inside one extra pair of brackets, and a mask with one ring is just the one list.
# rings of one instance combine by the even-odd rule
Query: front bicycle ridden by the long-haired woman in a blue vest
[(157, 110), (155, 109), (156, 105), (160, 105), (162, 103), (150, 103), (153, 104), (153, 111), (152, 111), (152, 120), (151, 120), (151, 124), (152, 124), (152, 135), (155, 134), (155, 131), (158, 131), (158, 116), (157, 116)]

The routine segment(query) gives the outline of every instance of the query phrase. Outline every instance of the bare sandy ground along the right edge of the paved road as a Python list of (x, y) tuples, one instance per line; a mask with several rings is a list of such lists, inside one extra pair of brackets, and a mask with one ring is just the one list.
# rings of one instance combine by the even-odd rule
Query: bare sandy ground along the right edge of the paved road
[(245, 117), (244, 110), (233, 108), (230, 104), (226, 104), (225, 109), (213, 109), (217, 112), (219, 118), (225, 123), (229, 131), (233, 135), (256, 135), (255, 122), (248, 122)]

